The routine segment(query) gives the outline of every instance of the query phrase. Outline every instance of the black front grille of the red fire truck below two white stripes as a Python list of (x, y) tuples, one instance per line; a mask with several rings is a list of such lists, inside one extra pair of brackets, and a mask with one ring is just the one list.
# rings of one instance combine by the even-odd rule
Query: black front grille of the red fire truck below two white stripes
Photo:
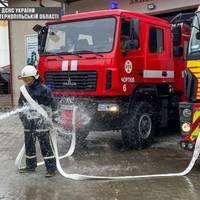
[(96, 71), (51, 71), (45, 74), (46, 84), (59, 91), (96, 91)]

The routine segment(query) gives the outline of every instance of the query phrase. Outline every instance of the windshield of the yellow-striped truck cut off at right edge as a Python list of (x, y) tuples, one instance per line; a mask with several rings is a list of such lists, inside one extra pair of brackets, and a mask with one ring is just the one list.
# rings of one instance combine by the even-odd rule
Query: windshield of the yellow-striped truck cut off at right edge
[(199, 32), (200, 32), (200, 12), (196, 13), (193, 20), (188, 54), (200, 53), (200, 38), (197, 36)]

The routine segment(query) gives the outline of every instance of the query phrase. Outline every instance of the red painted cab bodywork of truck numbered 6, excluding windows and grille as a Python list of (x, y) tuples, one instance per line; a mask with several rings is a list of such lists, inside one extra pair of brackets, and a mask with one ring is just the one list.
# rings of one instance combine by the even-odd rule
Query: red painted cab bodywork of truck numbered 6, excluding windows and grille
[[(180, 77), (182, 68), (184, 66), (182, 59), (173, 58), (172, 47), (172, 34), (170, 24), (159, 18), (139, 14), (132, 11), (125, 10), (105, 10), (95, 11), (88, 13), (79, 13), (73, 15), (66, 15), (62, 17), (61, 21), (56, 23), (63, 23), (69, 21), (79, 21), (91, 18), (101, 18), (106, 16), (114, 16), (117, 19), (115, 43), (113, 51), (110, 53), (102, 53), (102, 57), (93, 54), (83, 54), (81, 58), (76, 55), (63, 55), (62, 59), (57, 56), (41, 56), (38, 64), (38, 69), (41, 77), (44, 79), (46, 71), (60, 71), (62, 60), (77, 60), (78, 71), (96, 70), (98, 74), (97, 88), (94, 92), (74, 92), (74, 91), (54, 91), (56, 95), (76, 95), (76, 96), (127, 96), (131, 95), (134, 90), (135, 84), (146, 83), (176, 83), (175, 88), (177, 90), (183, 90), (183, 81)], [(138, 50), (129, 51), (124, 57), (120, 49), (120, 19), (124, 18), (138, 18), (140, 20), (140, 48)], [(52, 24), (55, 22), (49, 22)], [(149, 53), (148, 50), (148, 31), (149, 27), (154, 26), (162, 28), (164, 31), (164, 51), (162, 54)], [(133, 70), (130, 74), (127, 74), (124, 70), (124, 63), (126, 60), (130, 60), (133, 63)], [(160, 73), (168, 73), (174, 71), (174, 77), (143, 77), (144, 70), (159, 71)], [(181, 69), (180, 69), (181, 66)], [(112, 88), (106, 90), (106, 71), (112, 71)], [(133, 83), (126, 83), (126, 90), (123, 90), (124, 83), (122, 77), (134, 77)], [(176, 82), (175, 82), (176, 81)]]

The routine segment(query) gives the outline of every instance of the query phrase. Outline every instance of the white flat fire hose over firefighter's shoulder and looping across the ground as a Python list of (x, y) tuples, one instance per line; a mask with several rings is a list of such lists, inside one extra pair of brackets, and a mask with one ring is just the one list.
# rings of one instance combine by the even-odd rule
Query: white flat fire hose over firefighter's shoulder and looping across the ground
[[(20, 90), (21, 90), (22, 94), (24, 95), (24, 97), (26, 98), (26, 100), (28, 101), (28, 103), (30, 103), (30, 105), (35, 110), (37, 110), (42, 116), (44, 116), (45, 118), (48, 119), (46, 111), (37, 102), (35, 102), (30, 97), (30, 95), (26, 91), (25, 86), (22, 86), (20, 88)], [(139, 176), (110, 176), (110, 177), (109, 176), (91, 176), (91, 175), (82, 175), (82, 174), (68, 174), (61, 167), (60, 159), (71, 156), (73, 154), (74, 150), (75, 150), (75, 145), (76, 145), (75, 112), (76, 112), (76, 107), (73, 108), (73, 119), (72, 119), (73, 131), (72, 131), (71, 146), (70, 146), (69, 151), (67, 152), (67, 154), (63, 155), (62, 157), (59, 157), (59, 155), (58, 155), (58, 147), (57, 147), (55, 129), (53, 128), (53, 132), (51, 132), (51, 138), (52, 138), (53, 148), (54, 148), (54, 151), (55, 151), (54, 153), (55, 153), (55, 157), (56, 157), (56, 166), (57, 166), (57, 169), (60, 172), (60, 174), (65, 178), (69, 178), (69, 179), (73, 179), (73, 180), (89, 180), (89, 179), (96, 179), (96, 180), (130, 180), (130, 179), (141, 179), (141, 178), (184, 176), (184, 175), (188, 174), (192, 170), (196, 160), (199, 157), (199, 153), (200, 153), (200, 134), (197, 137), (195, 148), (194, 148), (194, 153), (193, 153), (192, 159), (191, 159), (188, 167), (184, 171), (179, 172), (179, 173), (151, 174), (151, 175), (139, 175)], [(15, 164), (16, 164), (16, 166), (18, 168), (20, 168), (20, 164), (21, 164), (21, 160), (22, 160), (22, 157), (23, 157), (23, 153), (24, 153), (24, 146), (22, 147), (20, 153), (18, 154), (18, 156), (16, 158)], [(44, 162), (38, 163), (38, 165), (41, 165), (43, 163)]]

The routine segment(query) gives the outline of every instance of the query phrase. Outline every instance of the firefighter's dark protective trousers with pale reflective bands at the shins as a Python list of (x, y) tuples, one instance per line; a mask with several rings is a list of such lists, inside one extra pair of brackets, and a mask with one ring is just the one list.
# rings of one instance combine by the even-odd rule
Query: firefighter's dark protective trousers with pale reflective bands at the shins
[(36, 138), (38, 138), (45, 166), (48, 171), (56, 170), (56, 160), (53, 153), (53, 147), (50, 139), (49, 130), (31, 130), (25, 129), (25, 151), (26, 151), (26, 167), (36, 168)]

